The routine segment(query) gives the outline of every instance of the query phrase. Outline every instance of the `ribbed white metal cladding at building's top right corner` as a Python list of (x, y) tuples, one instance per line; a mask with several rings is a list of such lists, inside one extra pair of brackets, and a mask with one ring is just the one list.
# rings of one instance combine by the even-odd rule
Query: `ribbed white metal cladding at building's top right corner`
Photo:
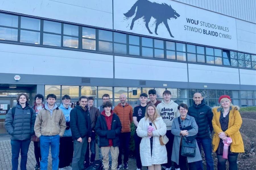
[(173, 0), (256, 23), (255, 0)]

